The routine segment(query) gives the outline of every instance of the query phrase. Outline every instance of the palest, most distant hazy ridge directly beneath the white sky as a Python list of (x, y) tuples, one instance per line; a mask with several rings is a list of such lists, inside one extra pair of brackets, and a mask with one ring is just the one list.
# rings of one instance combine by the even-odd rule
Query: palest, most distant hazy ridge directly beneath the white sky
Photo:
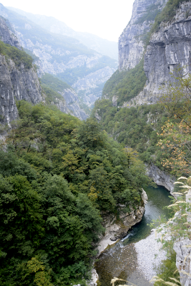
[(117, 42), (108, 41), (106, 39), (102, 39), (96, 35), (86, 32), (76, 32), (70, 27), (68, 27), (64, 22), (59, 21), (54, 17), (32, 14), (14, 7), (7, 8), (9, 10), (17, 12), (22, 16), (26, 16), (28, 19), (35, 22), (37, 25), (41, 26), (43, 29), (49, 32), (76, 38), (88, 48), (91, 48), (100, 54), (118, 60)]

